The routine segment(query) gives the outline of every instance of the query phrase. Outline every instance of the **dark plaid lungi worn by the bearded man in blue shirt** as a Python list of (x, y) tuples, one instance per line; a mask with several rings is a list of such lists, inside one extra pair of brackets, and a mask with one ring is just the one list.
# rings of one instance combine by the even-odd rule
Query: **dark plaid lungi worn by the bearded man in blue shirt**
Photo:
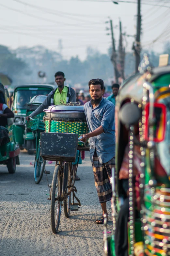
[(93, 155), (93, 173), (99, 202), (104, 203), (112, 198), (112, 186), (110, 184), (111, 169), (115, 168), (115, 156), (107, 163), (101, 164), (96, 150)]

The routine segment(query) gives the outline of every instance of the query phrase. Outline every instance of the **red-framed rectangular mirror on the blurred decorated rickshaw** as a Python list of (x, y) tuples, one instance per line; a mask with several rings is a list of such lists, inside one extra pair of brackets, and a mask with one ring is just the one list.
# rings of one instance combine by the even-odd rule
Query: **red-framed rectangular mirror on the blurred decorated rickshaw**
[(149, 120), (149, 103), (145, 106), (144, 137), (147, 141), (161, 142), (165, 137), (166, 106), (162, 103), (154, 103), (153, 119)]

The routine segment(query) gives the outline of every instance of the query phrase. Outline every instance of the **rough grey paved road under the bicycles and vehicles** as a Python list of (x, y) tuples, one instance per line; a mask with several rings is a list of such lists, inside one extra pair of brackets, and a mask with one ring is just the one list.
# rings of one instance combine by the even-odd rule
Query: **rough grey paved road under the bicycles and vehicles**
[[(103, 255), (103, 225), (95, 224), (101, 215), (94, 185), (89, 152), (78, 168), (81, 181), (76, 182), (77, 196), (82, 206), (66, 219), (62, 210), (59, 232), (53, 234), (50, 220), (48, 186), (44, 175), (40, 184), (34, 183), (34, 156), (23, 151), (15, 174), (0, 166), (0, 255), (1, 256), (72, 256)], [(54, 162), (46, 169), (52, 182)], [(109, 218), (111, 209), (109, 205)], [(112, 222), (108, 230), (112, 231)]]

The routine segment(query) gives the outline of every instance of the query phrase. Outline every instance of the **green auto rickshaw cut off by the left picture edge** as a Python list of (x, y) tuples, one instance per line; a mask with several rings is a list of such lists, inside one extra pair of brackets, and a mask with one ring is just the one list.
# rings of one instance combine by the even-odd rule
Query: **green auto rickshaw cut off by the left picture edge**
[[(0, 83), (0, 103), (9, 107), (9, 93), (7, 88)], [(7, 125), (0, 123), (0, 164), (7, 165), (9, 173), (15, 173), (16, 165), (20, 164), (20, 147), (18, 142), (14, 142), (12, 119), (7, 119)]]

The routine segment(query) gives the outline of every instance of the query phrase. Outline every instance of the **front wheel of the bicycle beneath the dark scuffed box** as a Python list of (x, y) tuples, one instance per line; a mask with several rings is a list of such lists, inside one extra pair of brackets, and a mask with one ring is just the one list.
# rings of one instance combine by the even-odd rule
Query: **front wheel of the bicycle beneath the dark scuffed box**
[(54, 169), (52, 188), (51, 188), (51, 227), (55, 234), (58, 231), (61, 215), (61, 193), (62, 178), (61, 167), (57, 165)]

